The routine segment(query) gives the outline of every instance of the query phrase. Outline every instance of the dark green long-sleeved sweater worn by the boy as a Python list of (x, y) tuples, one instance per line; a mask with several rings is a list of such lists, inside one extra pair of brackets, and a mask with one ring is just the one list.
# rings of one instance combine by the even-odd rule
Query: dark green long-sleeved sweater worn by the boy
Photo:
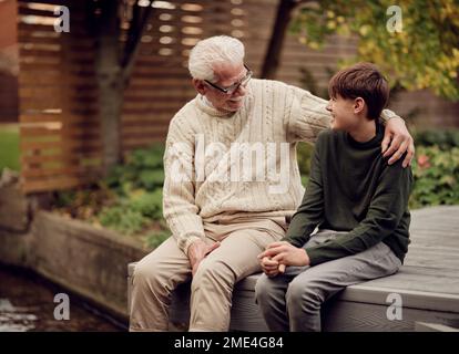
[(412, 174), (401, 167), (405, 156), (387, 164), (381, 154), (385, 127), (376, 125), (376, 136), (366, 143), (332, 129), (317, 138), (309, 183), (284, 240), (305, 247), (316, 227), (349, 232), (305, 247), (310, 266), (356, 254), (380, 241), (404, 262)]

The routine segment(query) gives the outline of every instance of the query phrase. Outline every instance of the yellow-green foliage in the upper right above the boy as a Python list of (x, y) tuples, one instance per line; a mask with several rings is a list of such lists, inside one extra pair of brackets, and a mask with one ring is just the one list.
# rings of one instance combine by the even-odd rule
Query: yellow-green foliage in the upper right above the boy
[[(389, 32), (389, 0), (308, 1), (294, 15), (292, 31), (312, 49), (330, 34), (358, 37), (351, 59), (378, 64), (391, 85), (409, 91), (430, 87), (459, 100), (459, 7), (456, 0), (407, 0), (401, 8), (401, 32)], [(347, 65), (350, 61), (340, 61)]]

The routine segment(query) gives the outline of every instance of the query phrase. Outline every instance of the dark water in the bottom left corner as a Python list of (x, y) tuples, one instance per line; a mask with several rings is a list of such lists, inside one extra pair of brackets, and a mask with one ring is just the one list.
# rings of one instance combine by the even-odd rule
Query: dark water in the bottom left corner
[[(58, 293), (69, 295), (69, 320), (54, 319)], [(122, 323), (58, 285), (33, 273), (0, 266), (0, 332), (124, 330)]]

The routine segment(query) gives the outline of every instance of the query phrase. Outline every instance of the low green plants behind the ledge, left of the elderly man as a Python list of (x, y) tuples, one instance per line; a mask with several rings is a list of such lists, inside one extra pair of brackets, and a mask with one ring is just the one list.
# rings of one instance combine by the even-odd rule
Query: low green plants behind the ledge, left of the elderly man
[(139, 236), (149, 248), (159, 246), (170, 236), (162, 220), (163, 155), (162, 145), (136, 149), (96, 186), (58, 192), (55, 207), (71, 217)]

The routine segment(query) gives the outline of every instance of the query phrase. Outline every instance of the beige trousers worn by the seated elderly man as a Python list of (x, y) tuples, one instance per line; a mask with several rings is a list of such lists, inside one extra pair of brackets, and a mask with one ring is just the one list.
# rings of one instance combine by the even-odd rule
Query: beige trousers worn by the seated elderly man
[[(257, 254), (285, 236), (284, 218), (204, 223), (206, 242), (221, 246), (200, 264), (191, 285), (190, 331), (227, 331), (234, 284), (261, 271)], [(191, 279), (174, 237), (144, 257), (132, 280), (130, 331), (167, 331), (172, 291)]]

